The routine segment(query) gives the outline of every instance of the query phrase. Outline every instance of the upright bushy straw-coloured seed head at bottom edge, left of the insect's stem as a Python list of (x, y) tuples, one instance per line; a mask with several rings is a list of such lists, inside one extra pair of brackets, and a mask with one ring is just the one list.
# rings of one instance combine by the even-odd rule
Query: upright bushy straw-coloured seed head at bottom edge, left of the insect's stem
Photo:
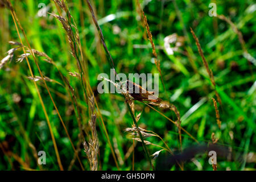
[(98, 137), (97, 137), (97, 131), (96, 131), (96, 114), (94, 114), (94, 96), (89, 98), (89, 108), (91, 111), (91, 118), (89, 121), (90, 130), (91, 130), (91, 137), (89, 139), (89, 142), (86, 143), (85, 141), (82, 143), (84, 145), (84, 151), (88, 157), (89, 163), (90, 163), (90, 169), (92, 171), (97, 171), (98, 169)]

